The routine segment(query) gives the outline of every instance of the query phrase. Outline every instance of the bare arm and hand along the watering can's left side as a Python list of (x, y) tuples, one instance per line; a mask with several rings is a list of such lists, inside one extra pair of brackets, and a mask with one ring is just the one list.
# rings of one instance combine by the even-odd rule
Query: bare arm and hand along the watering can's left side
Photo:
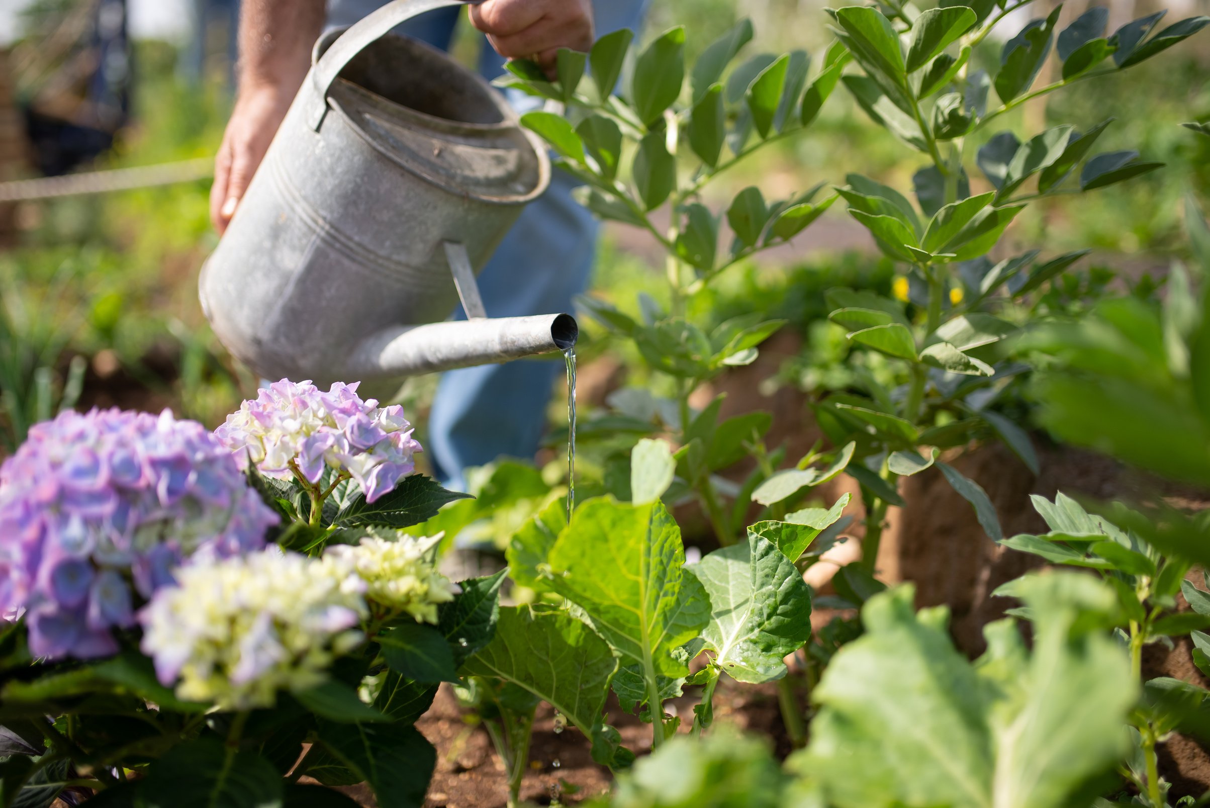
[(240, 10), (238, 96), (214, 162), (211, 220), (226, 230), (311, 65), (324, 0), (250, 0)]

